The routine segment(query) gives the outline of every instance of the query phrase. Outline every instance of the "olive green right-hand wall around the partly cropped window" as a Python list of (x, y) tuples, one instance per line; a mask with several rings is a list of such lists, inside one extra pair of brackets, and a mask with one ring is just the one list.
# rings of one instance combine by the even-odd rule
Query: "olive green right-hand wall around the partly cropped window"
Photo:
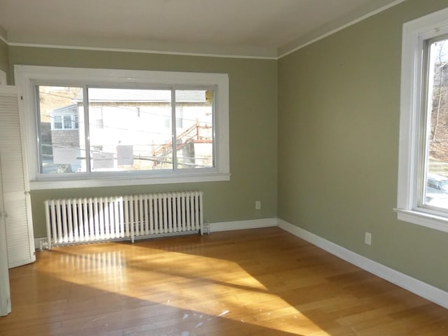
[(448, 234), (393, 208), (402, 24), (447, 6), (407, 0), (279, 60), (279, 218), (443, 290)]

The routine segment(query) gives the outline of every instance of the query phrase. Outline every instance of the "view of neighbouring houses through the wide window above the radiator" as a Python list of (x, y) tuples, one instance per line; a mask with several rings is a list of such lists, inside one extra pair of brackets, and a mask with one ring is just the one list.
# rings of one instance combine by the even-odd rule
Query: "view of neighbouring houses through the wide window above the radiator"
[(214, 90), (38, 85), (36, 92), (41, 174), (215, 167)]

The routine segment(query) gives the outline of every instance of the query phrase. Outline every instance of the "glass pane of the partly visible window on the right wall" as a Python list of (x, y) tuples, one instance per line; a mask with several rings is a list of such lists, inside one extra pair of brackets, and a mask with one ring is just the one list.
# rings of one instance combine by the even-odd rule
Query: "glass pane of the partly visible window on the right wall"
[(429, 47), (426, 205), (448, 209), (448, 39)]

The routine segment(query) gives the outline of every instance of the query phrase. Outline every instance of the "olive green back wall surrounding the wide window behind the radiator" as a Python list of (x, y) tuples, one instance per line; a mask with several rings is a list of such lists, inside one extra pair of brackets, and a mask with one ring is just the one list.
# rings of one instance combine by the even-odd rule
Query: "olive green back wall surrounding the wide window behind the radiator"
[[(276, 217), (277, 62), (266, 59), (193, 57), (130, 52), (10, 46), (14, 64), (109, 69), (193, 71), (229, 74), (230, 181), (73, 190), (34, 190), (34, 236), (45, 237), (43, 201), (81, 197), (203, 190), (204, 219), (210, 223)], [(255, 211), (255, 200), (262, 209)]]

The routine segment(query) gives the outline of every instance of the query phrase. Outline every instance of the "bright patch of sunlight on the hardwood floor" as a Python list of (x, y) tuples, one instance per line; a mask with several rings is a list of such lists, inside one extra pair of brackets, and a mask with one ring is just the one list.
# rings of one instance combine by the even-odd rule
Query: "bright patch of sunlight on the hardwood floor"
[[(71, 254), (73, 251), (75, 254)], [(196, 328), (204, 328), (216, 318), (226, 318), (290, 335), (330, 335), (280, 295), (272, 293), (269, 283), (285, 290), (288, 284), (262, 274), (257, 265), (241, 267), (230, 260), (198, 255), (197, 251), (167, 252), (134, 245), (126, 251), (77, 255), (76, 250), (59, 248), (51, 253), (62, 254), (62, 258), (48, 260), (59, 265), (48, 269), (73, 269), (76, 274), (55, 271), (49, 275), (73, 286), (144, 300), (151, 307), (160, 304), (183, 309), (182, 320), (192, 318)], [(260, 274), (252, 275), (245, 268)], [(129, 285), (131, 276), (133, 281), (138, 279), (139, 286)]]

